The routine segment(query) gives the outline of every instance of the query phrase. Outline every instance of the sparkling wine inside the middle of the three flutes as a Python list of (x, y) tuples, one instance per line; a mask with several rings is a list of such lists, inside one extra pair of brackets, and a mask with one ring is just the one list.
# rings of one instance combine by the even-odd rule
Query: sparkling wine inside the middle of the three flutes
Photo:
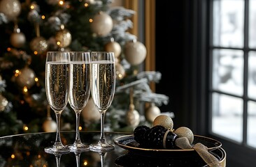
[(90, 63), (73, 61), (70, 70), (69, 104), (81, 111), (90, 97)]

